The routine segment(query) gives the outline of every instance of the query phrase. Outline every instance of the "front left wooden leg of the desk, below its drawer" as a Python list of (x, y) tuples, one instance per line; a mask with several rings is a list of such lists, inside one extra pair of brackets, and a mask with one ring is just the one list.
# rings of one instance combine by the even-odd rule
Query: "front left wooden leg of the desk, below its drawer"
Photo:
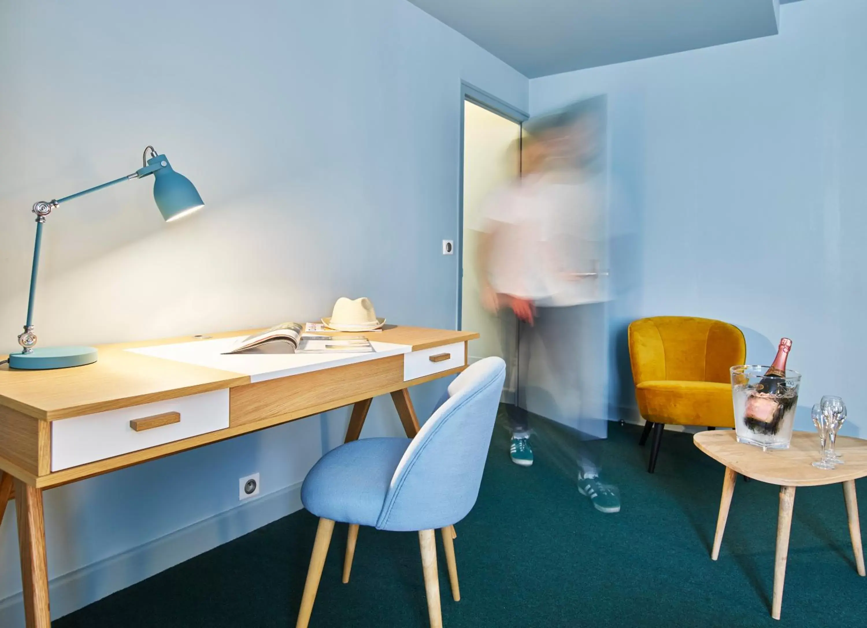
[(42, 489), (15, 481), (18, 512), (18, 547), (27, 628), (50, 628), (49, 571), (45, 555), (45, 519)]

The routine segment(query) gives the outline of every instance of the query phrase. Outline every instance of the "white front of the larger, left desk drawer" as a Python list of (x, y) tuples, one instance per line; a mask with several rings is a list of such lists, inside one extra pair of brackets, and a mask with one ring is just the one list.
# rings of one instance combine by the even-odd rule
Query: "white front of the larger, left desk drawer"
[[(161, 420), (156, 418), (159, 415), (169, 416)], [(155, 419), (150, 423), (138, 421), (140, 431), (130, 424), (147, 418)], [(153, 424), (158, 426), (151, 427)], [(51, 422), (51, 470), (77, 467), (227, 427), (228, 389), (62, 418)]]

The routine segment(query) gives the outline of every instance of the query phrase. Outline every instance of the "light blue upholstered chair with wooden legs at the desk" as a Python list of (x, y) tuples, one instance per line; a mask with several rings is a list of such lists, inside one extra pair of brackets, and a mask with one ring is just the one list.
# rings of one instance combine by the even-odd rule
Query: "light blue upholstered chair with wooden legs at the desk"
[(310, 469), (301, 501), (319, 517), (319, 527), (297, 628), (306, 628), (310, 621), (335, 521), (350, 524), (344, 582), (355, 551), (352, 526), (418, 531), (427, 612), (432, 628), (441, 628), (434, 530), (442, 532), (452, 594), (458, 600), (452, 526), (466, 517), (479, 495), (504, 380), (502, 359), (481, 359), (448, 386), (413, 439), (352, 441), (329, 451)]

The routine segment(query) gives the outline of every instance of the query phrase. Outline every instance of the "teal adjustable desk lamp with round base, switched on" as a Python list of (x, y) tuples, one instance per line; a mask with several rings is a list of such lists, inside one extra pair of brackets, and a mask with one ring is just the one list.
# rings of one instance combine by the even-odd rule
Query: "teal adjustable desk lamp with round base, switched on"
[[(150, 158), (148, 159), (148, 155)], [(11, 368), (45, 370), (52, 368), (66, 368), (67, 366), (83, 366), (96, 361), (96, 349), (92, 346), (55, 346), (36, 349), (36, 333), (33, 333), (33, 300), (36, 294), (36, 271), (39, 269), (39, 249), (42, 244), (42, 224), (51, 210), (61, 204), (71, 201), (73, 198), (83, 197), (85, 194), (107, 188), (109, 185), (128, 181), (131, 178), (144, 178), (153, 174), (153, 200), (156, 201), (160, 214), (169, 223), (180, 217), (188, 216), (193, 211), (205, 206), (199, 192), (190, 183), (190, 179), (174, 172), (169, 165), (166, 155), (158, 155), (153, 146), (147, 146), (142, 156), (144, 165), (139, 170), (128, 174), (126, 177), (116, 178), (102, 185), (97, 185), (88, 190), (70, 194), (59, 200), (40, 201), (33, 205), (33, 213), (36, 214), (36, 247), (33, 251), (33, 270), (30, 273), (30, 296), (27, 302), (27, 324), (24, 332), (18, 336), (18, 344), (21, 345), (21, 353), (12, 353), (9, 356)]]

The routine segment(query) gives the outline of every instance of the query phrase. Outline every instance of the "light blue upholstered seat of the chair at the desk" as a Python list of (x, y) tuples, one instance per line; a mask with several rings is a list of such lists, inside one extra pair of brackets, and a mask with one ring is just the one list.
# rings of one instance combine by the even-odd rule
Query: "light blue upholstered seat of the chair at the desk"
[(304, 479), (301, 502), (313, 515), (375, 526), (409, 438), (362, 438), (319, 459)]

